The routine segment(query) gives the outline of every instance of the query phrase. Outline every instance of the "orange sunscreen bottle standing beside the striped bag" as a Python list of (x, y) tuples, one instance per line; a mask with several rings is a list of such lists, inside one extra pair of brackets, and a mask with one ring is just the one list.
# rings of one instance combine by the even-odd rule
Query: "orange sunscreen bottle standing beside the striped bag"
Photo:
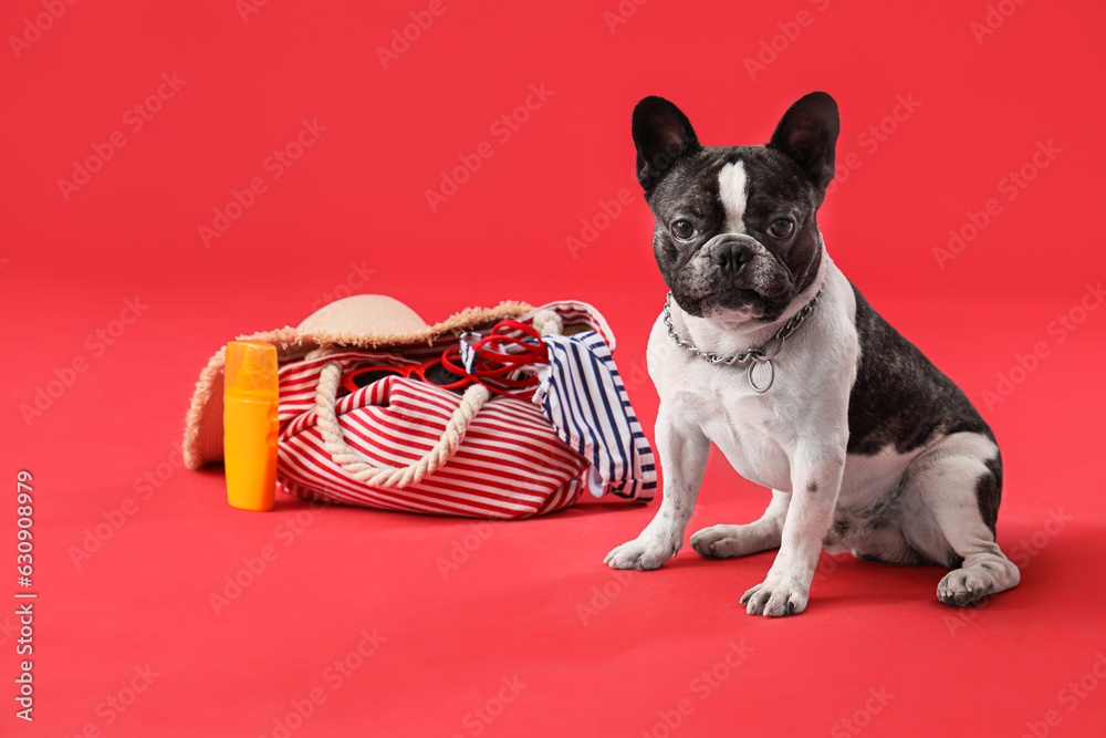
[(227, 499), (239, 510), (271, 510), (276, 491), (276, 349), (262, 341), (231, 341), (222, 383)]

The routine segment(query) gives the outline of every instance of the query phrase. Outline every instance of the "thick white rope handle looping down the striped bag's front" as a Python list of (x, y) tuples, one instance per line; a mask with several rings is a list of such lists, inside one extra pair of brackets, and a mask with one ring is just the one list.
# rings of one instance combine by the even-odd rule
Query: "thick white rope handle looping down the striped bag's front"
[(446, 424), (441, 438), (426, 456), (406, 467), (378, 467), (365, 460), (361, 454), (351, 448), (342, 436), (342, 427), (334, 414), (334, 403), (338, 383), (342, 380), (342, 366), (330, 362), (323, 366), (319, 376), (319, 388), (315, 391), (315, 416), (319, 429), (323, 434), (323, 445), (334, 460), (357, 481), (374, 487), (395, 487), (404, 489), (417, 485), (434, 474), (453, 454), (457, 453), (469, 424), (480, 407), (488, 401), (490, 393), (482, 384), (473, 384), (465, 391), (461, 404), (453, 410), (452, 417)]

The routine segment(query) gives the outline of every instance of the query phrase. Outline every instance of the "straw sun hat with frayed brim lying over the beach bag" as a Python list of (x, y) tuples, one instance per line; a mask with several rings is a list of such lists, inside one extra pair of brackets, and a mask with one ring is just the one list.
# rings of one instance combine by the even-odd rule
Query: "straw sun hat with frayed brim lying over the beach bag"
[[(279, 362), (302, 358), (323, 346), (376, 349), (424, 343), (432, 345), (445, 334), (479, 330), (533, 310), (524, 302), (501, 302), (495, 308), (468, 308), (435, 325), (393, 298), (355, 294), (320, 308), (296, 328), (285, 326), (238, 336), (240, 341), (265, 341), (276, 346)], [(185, 466), (198, 469), (222, 460), (223, 345), (200, 372), (185, 419)]]

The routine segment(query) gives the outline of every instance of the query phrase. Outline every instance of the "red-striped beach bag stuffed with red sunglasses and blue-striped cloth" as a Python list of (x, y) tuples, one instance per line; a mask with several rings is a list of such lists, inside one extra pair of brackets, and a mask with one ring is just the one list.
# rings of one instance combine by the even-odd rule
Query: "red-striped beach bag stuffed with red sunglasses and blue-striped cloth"
[[(653, 453), (594, 308), (503, 303), (397, 330), (382, 329), (386, 299), (372, 297), (374, 328), (351, 331), (340, 313), (367, 305), (347, 304), (283, 329), (294, 340), (243, 336), (278, 337), (279, 490), (494, 519), (561, 510), (585, 492), (653, 498)], [(186, 434), (186, 461), (187, 447)]]

